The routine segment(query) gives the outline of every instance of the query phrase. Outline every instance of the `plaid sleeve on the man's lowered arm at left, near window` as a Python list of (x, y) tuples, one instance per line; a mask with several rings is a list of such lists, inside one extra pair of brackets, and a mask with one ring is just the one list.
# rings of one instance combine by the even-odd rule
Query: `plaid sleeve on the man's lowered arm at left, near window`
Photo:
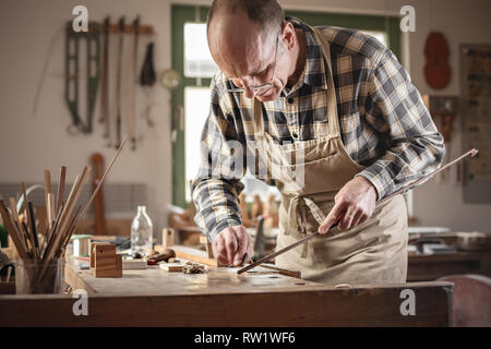
[(192, 184), (196, 206), (195, 222), (211, 241), (225, 228), (241, 225), (238, 194), (243, 189), (244, 176), (241, 149), (227, 98), (212, 81), (212, 100), (208, 118), (201, 136), (201, 165)]

